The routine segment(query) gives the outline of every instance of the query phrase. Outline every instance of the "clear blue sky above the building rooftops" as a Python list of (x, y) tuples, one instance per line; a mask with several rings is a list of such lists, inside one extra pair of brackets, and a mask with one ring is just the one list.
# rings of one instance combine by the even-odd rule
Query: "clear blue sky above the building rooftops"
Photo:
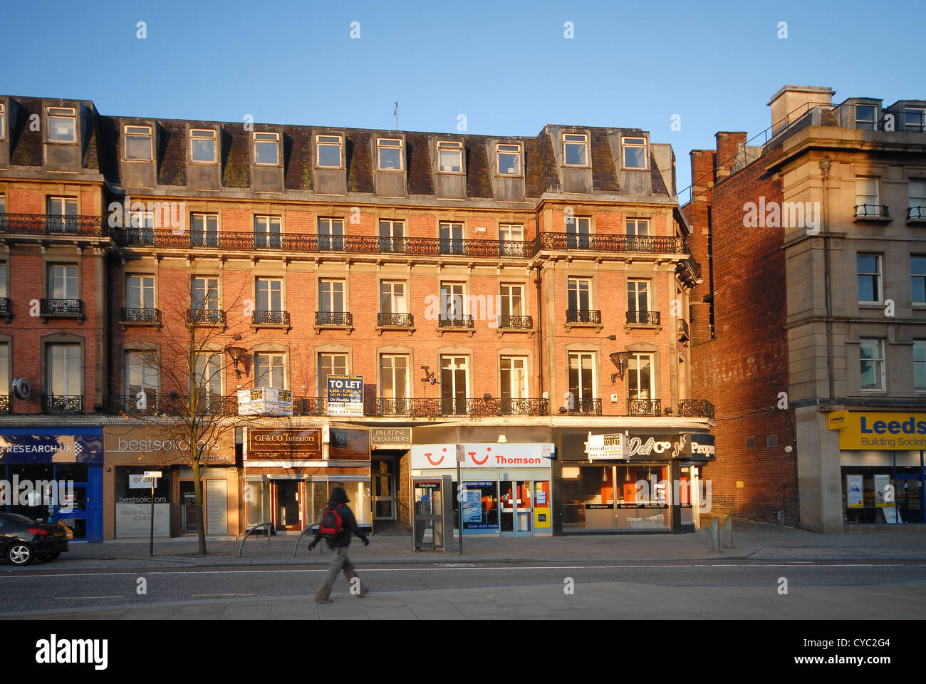
[(0, 93), (165, 119), (394, 128), (398, 101), (408, 131), (641, 128), (674, 146), (682, 188), (689, 151), (760, 133), (785, 83), (926, 99), (924, 27), (922, 0), (0, 0)]

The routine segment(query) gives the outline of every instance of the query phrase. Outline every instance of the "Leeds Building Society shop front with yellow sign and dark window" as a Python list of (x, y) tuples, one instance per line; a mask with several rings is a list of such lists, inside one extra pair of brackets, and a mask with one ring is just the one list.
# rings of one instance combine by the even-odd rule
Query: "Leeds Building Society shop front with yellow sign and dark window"
[(926, 413), (837, 411), (846, 526), (926, 523)]

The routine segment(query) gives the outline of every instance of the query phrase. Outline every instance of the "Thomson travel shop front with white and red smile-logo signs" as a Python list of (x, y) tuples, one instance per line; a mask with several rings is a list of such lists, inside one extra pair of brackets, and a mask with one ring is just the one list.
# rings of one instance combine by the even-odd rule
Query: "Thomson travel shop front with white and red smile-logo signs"
[[(459, 520), (462, 507), (463, 534), (552, 534), (553, 444), (474, 443), (464, 444), (463, 452), (460, 487), (456, 444), (417, 444), (411, 448), (411, 475), (451, 476), (454, 519)], [(455, 526), (458, 529), (458, 523)]]

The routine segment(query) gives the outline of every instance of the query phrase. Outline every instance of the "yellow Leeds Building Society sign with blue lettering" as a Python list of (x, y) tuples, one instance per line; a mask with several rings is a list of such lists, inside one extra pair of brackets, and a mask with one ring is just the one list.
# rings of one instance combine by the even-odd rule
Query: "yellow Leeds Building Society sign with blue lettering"
[[(837, 412), (828, 420), (839, 430), (839, 448), (847, 450), (926, 449), (926, 413)], [(842, 424), (844, 426), (840, 427)]]

